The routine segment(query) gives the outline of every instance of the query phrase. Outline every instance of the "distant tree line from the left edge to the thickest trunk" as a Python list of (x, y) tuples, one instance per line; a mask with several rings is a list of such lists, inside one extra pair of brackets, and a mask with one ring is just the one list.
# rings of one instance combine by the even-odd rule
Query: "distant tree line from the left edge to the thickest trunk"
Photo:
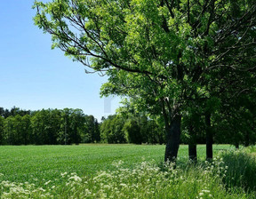
[(23, 110), (0, 107), (1, 145), (70, 145), (79, 143), (163, 144), (164, 128), (146, 115), (122, 113), (102, 117), (81, 109)]

